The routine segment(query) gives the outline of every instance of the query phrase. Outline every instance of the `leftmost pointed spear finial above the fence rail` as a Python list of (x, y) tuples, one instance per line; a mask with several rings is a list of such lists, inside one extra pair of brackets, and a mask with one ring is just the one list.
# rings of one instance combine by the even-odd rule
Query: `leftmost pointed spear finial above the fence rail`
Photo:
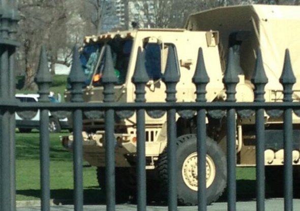
[(44, 46), (41, 47), (40, 61), (39, 61), (37, 75), (35, 77), (35, 82), (39, 86), (39, 91), (38, 91), (38, 93), (40, 94), (39, 101), (41, 102), (49, 101), (48, 95), (49, 95), (50, 84), (52, 82), (52, 76), (48, 68), (48, 60), (47, 60), (46, 50)]

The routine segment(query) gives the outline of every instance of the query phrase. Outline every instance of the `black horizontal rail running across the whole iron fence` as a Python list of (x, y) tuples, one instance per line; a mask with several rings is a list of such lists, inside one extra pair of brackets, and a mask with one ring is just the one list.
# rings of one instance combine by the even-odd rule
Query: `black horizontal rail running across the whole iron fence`
[[(8, 103), (6, 103), (8, 102)], [(6, 107), (10, 106), (15, 111), (22, 111), (22, 110), (34, 110), (39, 108), (45, 108), (52, 111), (58, 110), (75, 110), (75, 109), (82, 109), (82, 110), (105, 110), (108, 108), (113, 108), (116, 111), (120, 110), (135, 110), (137, 108), (153, 110), (155, 109), (162, 109), (167, 110), (170, 108), (176, 108), (177, 110), (196, 110), (197, 108), (204, 108), (205, 110), (219, 110), (219, 109), (229, 109), (234, 108), (236, 110), (244, 110), (244, 109), (252, 109), (256, 110), (259, 108), (263, 108), (265, 110), (284, 110), (285, 108), (292, 108), (294, 109), (295, 113), (298, 112), (300, 109), (300, 105), (297, 102), (178, 102), (178, 103), (61, 103), (62, 105), (56, 105), (53, 103), (20, 103), (19, 101), (7, 101), (3, 100), (0, 103), (0, 106)]]

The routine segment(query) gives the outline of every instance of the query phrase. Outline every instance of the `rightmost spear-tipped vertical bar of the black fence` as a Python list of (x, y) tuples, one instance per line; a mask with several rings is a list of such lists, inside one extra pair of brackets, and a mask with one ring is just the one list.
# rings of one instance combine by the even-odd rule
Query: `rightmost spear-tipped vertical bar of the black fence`
[[(288, 49), (285, 51), (284, 67), (279, 79), (283, 85), (283, 102), (292, 102), (292, 87), (296, 82), (290, 62)], [(283, 114), (283, 140), (284, 140), (284, 210), (293, 210), (293, 124), (292, 109), (287, 108)]]

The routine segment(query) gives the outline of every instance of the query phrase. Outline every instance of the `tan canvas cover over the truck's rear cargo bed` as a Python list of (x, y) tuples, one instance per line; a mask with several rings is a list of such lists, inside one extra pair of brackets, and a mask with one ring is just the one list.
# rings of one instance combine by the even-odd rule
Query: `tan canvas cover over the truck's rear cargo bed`
[(252, 77), (256, 50), (260, 47), (269, 81), (266, 88), (271, 90), (282, 90), (279, 78), (285, 49), (288, 48), (297, 78), (293, 89), (300, 90), (300, 6), (248, 5), (216, 8), (190, 15), (186, 28), (191, 31), (219, 31), (223, 71), (230, 47), (230, 34), (247, 31), (247, 39), (241, 44), (240, 58), (245, 79), (250, 80)]

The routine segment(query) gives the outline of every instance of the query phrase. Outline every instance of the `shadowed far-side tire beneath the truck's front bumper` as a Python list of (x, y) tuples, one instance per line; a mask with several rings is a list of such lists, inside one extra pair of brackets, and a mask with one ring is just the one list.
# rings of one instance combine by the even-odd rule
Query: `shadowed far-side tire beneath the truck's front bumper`
[[(97, 168), (97, 180), (101, 190), (105, 192), (105, 167)], [(115, 168), (115, 191), (117, 202), (124, 202), (136, 197), (136, 174), (134, 168)]]

